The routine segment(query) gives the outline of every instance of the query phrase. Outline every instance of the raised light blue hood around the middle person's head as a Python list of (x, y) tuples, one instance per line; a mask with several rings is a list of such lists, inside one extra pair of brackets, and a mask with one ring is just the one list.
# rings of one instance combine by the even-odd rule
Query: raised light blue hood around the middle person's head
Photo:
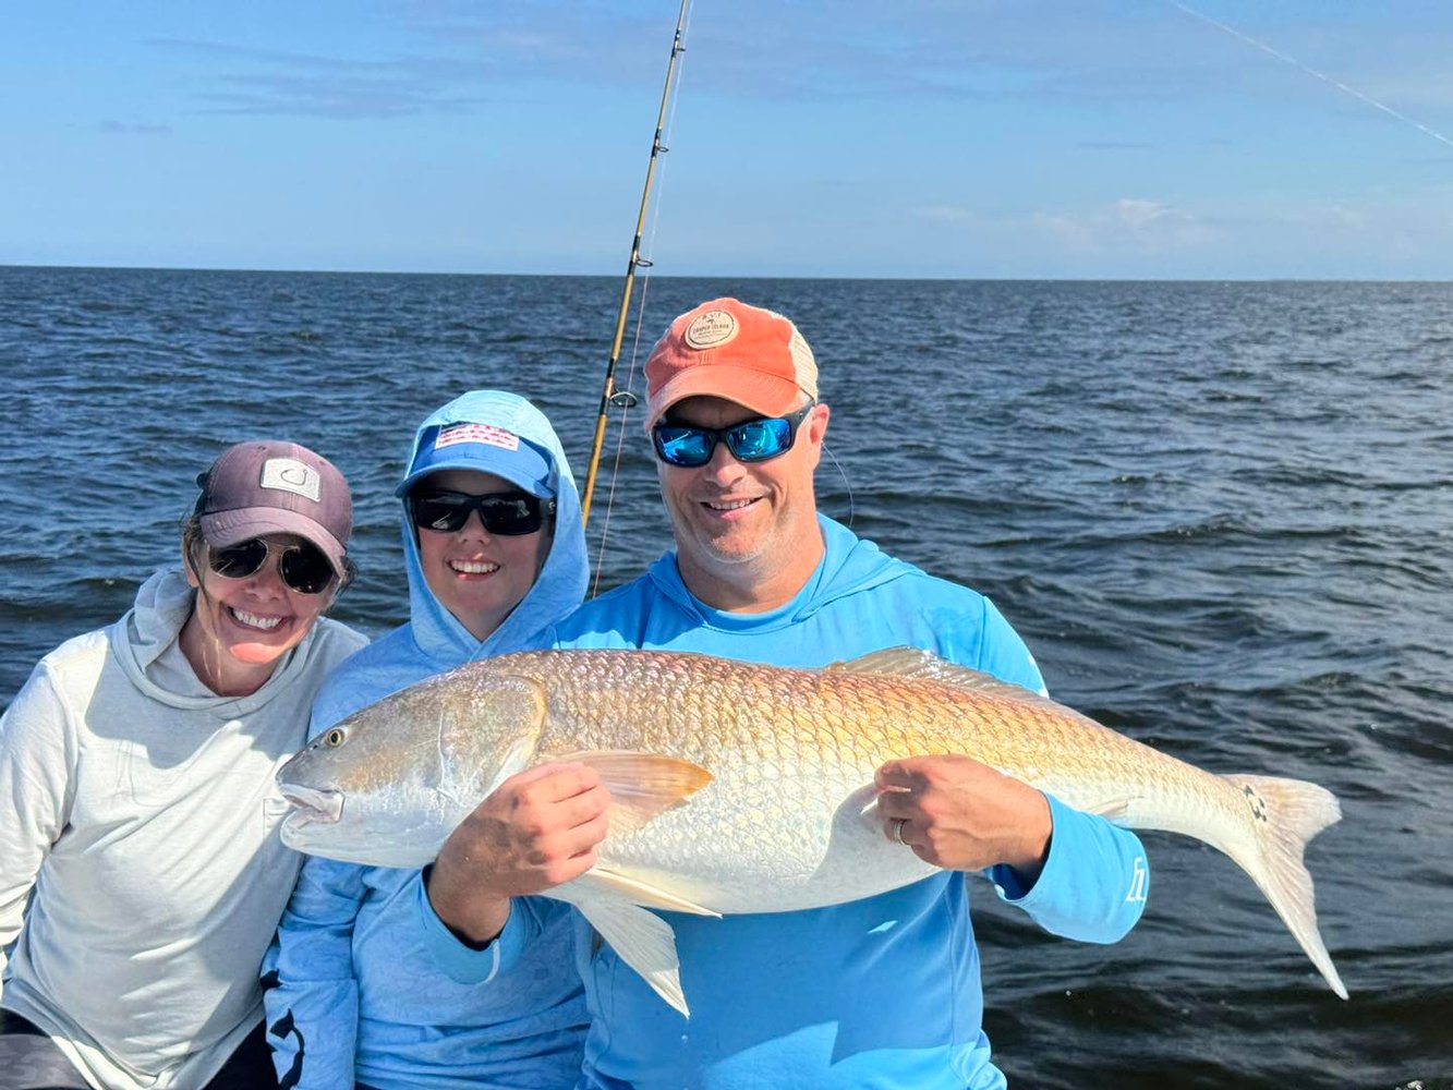
[(545, 629), (575, 609), (586, 596), (590, 565), (580, 520), (580, 493), (559, 436), (545, 414), (517, 394), (494, 389), (464, 394), (418, 426), (404, 461), (405, 483), (426, 437), (448, 424), (501, 427), (545, 455), (549, 474), (545, 485), (555, 497), (555, 536), (549, 555), (535, 584), (504, 623), (487, 639), (475, 639), (429, 589), (414, 526), (401, 498), (408, 623), (363, 648), (328, 679), (314, 703), (314, 732), (392, 692), (472, 658), (543, 647)]

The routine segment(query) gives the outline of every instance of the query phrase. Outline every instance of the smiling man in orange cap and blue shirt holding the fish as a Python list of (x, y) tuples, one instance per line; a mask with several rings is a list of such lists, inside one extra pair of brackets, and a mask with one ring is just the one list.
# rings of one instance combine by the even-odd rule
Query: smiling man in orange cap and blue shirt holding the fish
[[(737, 299), (705, 302), (671, 323), (647, 379), (676, 551), (561, 622), (556, 647), (806, 667), (911, 644), (1043, 687), (987, 599), (817, 513), (812, 474), (830, 411), (789, 320)], [(591, 1013), (584, 1086), (1004, 1086), (981, 1029), (969, 887), (956, 872), (987, 871), (1000, 897), (1056, 934), (1114, 942), (1144, 907), (1141, 844), (962, 756), (889, 762), (878, 786), (883, 834), (944, 869), (812, 911), (664, 913), (690, 1020), (609, 946), (577, 942)], [(464, 940), (434, 943), (436, 956), (461, 975), (475, 959), (482, 975), (488, 940), (527, 917), (511, 914), (506, 895), (586, 871), (604, 802), (588, 770), (548, 766), (481, 804), (430, 876), (434, 911)]]

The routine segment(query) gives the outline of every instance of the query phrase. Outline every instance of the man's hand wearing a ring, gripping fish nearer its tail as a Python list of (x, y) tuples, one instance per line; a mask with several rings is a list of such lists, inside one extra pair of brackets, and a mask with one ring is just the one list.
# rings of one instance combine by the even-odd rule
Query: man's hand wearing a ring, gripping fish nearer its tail
[[(971, 757), (907, 757), (875, 778), (883, 833), (947, 871), (1007, 863), (1027, 889), (1049, 856), (1053, 824), (1039, 791)], [(902, 823), (902, 824), (899, 824)]]

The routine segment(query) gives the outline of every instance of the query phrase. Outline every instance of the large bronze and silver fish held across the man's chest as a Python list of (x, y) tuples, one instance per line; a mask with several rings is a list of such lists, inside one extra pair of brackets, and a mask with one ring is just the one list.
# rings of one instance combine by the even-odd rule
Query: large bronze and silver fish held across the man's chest
[(468, 663), (323, 731), (278, 772), (288, 846), (424, 866), (507, 778), (588, 764), (609, 833), (572, 904), (689, 1014), (674, 932), (651, 910), (719, 917), (819, 908), (936, 868), (883, 836), (876, 769), (955, 753), (1135, 830), (1202, 840), (1257, 884), (1332, 991), (1306, 843), (1341, 818), (1305, 780), (1216, 775), (1040, 693), (917, 648), (822, 669), (670, 651), (527, 651)]

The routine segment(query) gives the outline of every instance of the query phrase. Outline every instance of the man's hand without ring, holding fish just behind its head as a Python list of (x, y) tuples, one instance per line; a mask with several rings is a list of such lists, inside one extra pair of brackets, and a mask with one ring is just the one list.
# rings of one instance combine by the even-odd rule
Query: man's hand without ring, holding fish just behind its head
[(610, 792), (586, 764), (539, 764), (511, 776), (449, 834), (429, 873), (429, 903), (464, 942), (493, 940), (510, 898), (538, 894), (596, 865)]

